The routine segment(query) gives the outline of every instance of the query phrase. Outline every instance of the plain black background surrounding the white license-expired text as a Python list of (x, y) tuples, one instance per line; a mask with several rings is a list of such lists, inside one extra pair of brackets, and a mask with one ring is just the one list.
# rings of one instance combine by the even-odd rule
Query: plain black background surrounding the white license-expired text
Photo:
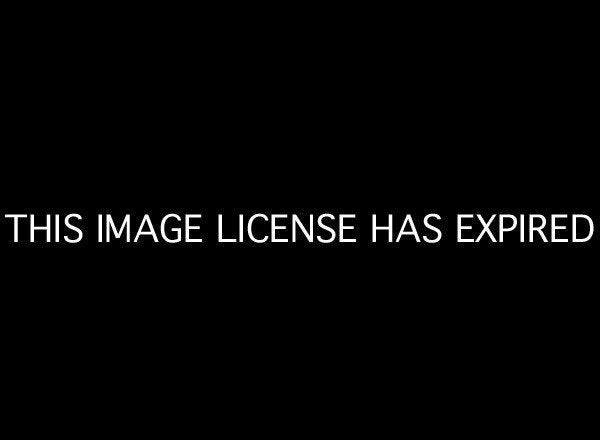
[[(453, 218), (597, 221), (592, 29), (539, 11), (247, 12), (30, 11), (3, 55), (2, 213), (356, 212), (361, 243), (5, 240), (12, 413), (572, 429), (594, 389), (597, 238), (460, 246)], [(371, 213), (428, 212), (440, 245), (368, 244)]]

